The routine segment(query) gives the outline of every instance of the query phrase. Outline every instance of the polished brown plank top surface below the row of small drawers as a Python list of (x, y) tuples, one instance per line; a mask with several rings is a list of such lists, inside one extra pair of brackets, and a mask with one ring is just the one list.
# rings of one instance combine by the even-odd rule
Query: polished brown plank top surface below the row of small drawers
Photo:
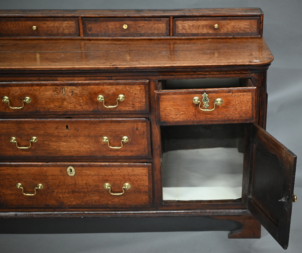
[(0, 40), (0, 70), (156, 70), (269, 64), (263, 38)]

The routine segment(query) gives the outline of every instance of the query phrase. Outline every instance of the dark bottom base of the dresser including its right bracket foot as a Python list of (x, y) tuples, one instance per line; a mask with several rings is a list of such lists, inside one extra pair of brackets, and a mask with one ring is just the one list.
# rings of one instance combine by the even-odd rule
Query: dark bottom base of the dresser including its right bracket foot
[[(24, 215), (26, 216), (26, 215)], [(22, 228), (22, 229), (21, 229)], [(0, 218), (1, 234), (231, 231), (229, 238), (260, 238), (261, 225), (251, 215), (39, 215)]]

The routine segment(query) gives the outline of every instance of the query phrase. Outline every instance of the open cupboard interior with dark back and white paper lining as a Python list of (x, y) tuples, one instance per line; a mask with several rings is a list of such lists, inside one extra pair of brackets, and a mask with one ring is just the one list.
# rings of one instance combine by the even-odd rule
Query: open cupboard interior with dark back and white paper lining
[(163, 201), (241, 198), (244, 127), (162, 126)]

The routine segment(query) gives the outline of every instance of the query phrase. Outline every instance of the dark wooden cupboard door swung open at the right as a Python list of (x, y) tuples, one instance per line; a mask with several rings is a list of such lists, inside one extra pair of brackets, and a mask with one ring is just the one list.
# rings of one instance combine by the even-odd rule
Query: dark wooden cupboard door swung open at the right
[(249, 211), (288, 248), (297, 157), (256, 124), (248, 126)]

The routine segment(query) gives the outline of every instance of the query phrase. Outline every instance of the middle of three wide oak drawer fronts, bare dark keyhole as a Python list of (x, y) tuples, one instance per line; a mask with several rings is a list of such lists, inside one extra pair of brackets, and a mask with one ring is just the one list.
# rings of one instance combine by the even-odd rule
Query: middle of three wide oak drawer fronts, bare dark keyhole
[(0, 130), (0, 153), (5, 162), (151, 157), (146, 119), (0, 120)]

